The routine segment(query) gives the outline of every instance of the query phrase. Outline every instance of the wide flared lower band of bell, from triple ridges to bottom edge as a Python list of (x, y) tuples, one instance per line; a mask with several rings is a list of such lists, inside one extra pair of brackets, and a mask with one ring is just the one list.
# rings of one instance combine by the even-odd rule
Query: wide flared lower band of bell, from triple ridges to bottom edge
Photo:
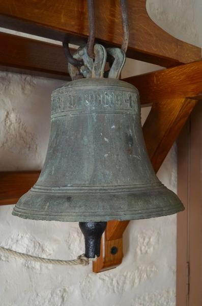
[(33, 220), (90, 222), (147, 219), (183, 210), (178, 196), (162, 185), (160, 189), (145, 192), (100, 195), (28, 191), (19, 199), (12, 214)]

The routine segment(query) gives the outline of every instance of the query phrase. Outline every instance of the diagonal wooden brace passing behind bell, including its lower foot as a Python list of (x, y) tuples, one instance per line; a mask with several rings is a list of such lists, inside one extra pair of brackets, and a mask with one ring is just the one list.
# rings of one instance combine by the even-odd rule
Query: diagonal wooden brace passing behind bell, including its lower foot
[[(162, 100), (153, 104), (152, 109), (143, 125), (146, 147), (155, 172), (158, 171), (168, 154), (172, 144), (178, 137), (183, 125), (196, 105), (197, 100), (180, 98)], [(105, 244), (109, 241), (122, 240), (123, 233), (129, 221), (109, 221), (105, 231)], [(109, 267), (108, 248), (105, 256), (99, 257), (93, 264), (94, 272), (101, 272)], [(116, 262), (116, 254), (113, 255)], [(120, 258), (117, 258), (119, 264)], [(113, 265), (114, 266), (114, 265)]]

